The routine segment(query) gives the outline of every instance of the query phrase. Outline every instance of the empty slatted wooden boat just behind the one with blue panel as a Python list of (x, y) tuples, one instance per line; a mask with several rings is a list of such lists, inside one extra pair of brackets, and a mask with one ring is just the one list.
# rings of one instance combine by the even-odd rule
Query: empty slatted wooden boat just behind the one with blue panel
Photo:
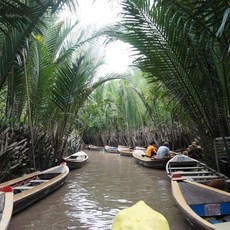
[(223, 187), (225, 180), (228, 179), (206, 164), (182, 154), (174, 156), (167, 162), (166, 172), (170, 178), (179, 176), (218, 188)]

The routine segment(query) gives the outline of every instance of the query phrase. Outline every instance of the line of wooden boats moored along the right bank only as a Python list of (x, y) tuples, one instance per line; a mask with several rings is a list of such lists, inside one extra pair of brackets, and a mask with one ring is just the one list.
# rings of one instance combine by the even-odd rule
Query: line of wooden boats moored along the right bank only
[[(94, 149), (96, 147), (92, 146), (91, 150)], [(156, 160), (146, 157), (145, 149), (140, 147), (105, 146), (104, 150), (131, 156), (145, 167), (166, 170), (172, 195), (194, 229), (230, 229), (230, 181), (227, 176), (181, 153)]]

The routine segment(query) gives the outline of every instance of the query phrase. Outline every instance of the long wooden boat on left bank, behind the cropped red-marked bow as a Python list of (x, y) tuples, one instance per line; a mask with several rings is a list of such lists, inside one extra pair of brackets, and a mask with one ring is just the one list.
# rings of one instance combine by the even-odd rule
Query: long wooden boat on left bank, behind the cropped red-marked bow
[(37, 171), (0, 184), (14, 192), (13, 214), (29, 207), (64, 184), (69, 174), (65, 162), (44, 171)]

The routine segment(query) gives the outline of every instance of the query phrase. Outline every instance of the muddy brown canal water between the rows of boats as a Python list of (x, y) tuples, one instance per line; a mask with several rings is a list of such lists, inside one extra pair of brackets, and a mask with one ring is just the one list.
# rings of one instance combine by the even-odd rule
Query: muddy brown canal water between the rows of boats
[(86, 152), (88, 163), (71, 171), (60, 189), (14, 215), (8, 230), (109, 230), (118, 211), (139, 200), (163, 214), (171, 230), (192, 230), (164, 170), (140, 166), (132, 157)]

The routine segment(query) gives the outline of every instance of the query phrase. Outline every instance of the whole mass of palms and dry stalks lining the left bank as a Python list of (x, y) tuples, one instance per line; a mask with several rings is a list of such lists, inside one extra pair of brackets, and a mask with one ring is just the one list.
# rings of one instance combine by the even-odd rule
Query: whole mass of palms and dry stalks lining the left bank
[(76, 4), (0, 3), (6, 12), (0, 46), (4, 179), (60, 162), (87, 97), (106, 81), (121, 77), (97, 75), (103, 61), (95, 58), (96, 41), (77, 21), (58, 18), (55, 11), (64, 3)]

